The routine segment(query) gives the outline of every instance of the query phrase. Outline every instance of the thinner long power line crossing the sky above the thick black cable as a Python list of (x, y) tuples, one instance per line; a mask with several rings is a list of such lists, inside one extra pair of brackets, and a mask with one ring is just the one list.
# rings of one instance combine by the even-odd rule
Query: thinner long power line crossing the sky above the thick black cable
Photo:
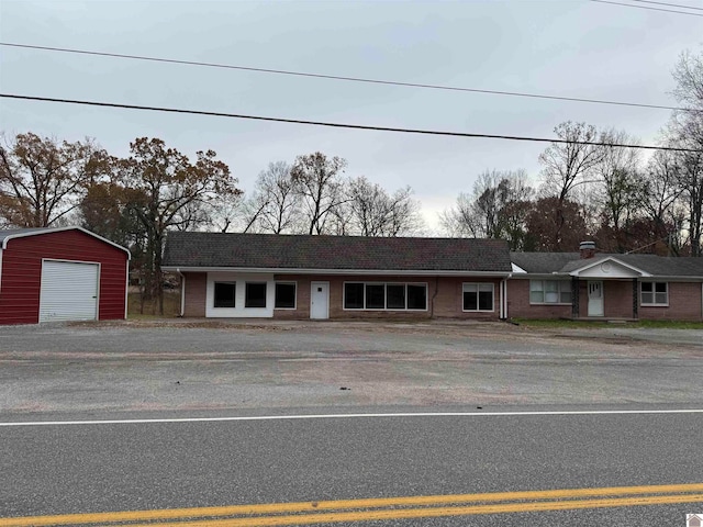
[(79, 54), (79, 55), (93, 55), (99, 57), (126, 58), (131, 60), (147, 60), (152, 63), (201, 66), (207, 68), (236, 69), (241, 71), (256, 71), (259, 74), (291, 75), (297, 77), (309, 77), (309, 78), (315, 78), (315, 79), (343, 80), (347, 82), (365, 82), (365, 83), (371, 83), (371, 85), (402, 86), (405, 88), (423, 88), (423, 89), (432, 89), (432, 90), (459, 91), (459, 92), (469, 92), (469, 93), (486, 93), (486, 94), (492, 94), (492, 96), (527, 97), (532, 99), (550, 99), (556, 101), (583, 102), (583, 103), (590, 103), (590, 104), (611, 104), (611, 105), (634, 106), (634, 108), (649, 108), (649, 109), (656, 109), (656, 110), (690, 111), (690, 109), (687, 109), (687, 108), (667, 106), (661, 104), (645, 104), (645, 103), (638, 103), (638, 102), (607, 101), (603, 99), (584, 99), (584, 98), (578, 98), (578, 97), (546, 96), (543, 93), (526, 93), (526, 92), (520, 92), (520, 91), (482, 90), (478, 88), (462, 88), (457, 86), (402, 82), (402, 81), (394, 81), (394, 80), (369, 79), (369, 78), (362, 78), (362, 77), (313, 74), (309, 71), (293, 71), (293, 70), (287, 70), (287, 69), (256, 68), (256, 67), (249, 67), (249, 66), (235, 66), (235, 65), (228, 65), (228, 64), (202, 63), (197, 60), (180, 60), (176, 58), (148, 57), (143, 55), (125, 55), (121, 53), (92, 52), (88, 49), (74, 49), (74, 48), (66, 48), (66, 47), (36, 46), (31, 44), (16, 44), (11, 42), (0, 42), (0, 46), (21, 47), (25, 49), (41, 49), (45, 52), (72, 53), (72, 54)]

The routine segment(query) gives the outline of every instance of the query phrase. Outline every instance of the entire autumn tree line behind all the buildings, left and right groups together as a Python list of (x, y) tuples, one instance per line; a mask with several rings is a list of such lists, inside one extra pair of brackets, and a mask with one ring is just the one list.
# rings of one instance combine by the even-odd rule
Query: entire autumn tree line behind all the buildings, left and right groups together
[[(502, 238), (514, 250), (573, 250), (585, 238), (612, 251), (701, 256), (703, 215), (703, 54), (680, 56), (673, 76), (684, 106), (643, 150), (624, 131), (565, 122), (563, 143), (539, 156), (542, 184), (525, 170), (488, 170), (458, 195), (440, 223), (449, 236)], [(593, 145), (590, 143), (601, 143)], [(92, 139), (33, 133), (0, 145), (0, 228), (79, 224), (129, 247), (142, 298), (161, 294), (169, 229), (361, 236), (422, 235), (420, 203), (404, 187), (388, 192), (347, 161), (323, 153), (271, 162), (246, 195), (212, 150), (194, 158), (141, 137), (124, 158)], [(163, 303), (163, 296), (160, 298)]]

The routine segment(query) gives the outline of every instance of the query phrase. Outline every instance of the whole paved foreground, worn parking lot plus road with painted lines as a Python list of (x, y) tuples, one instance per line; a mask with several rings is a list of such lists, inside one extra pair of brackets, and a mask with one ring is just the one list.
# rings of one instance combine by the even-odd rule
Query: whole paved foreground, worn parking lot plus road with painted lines
[(0, 327), (0, 527), (683, 526), (702, 359), (700, 330)]

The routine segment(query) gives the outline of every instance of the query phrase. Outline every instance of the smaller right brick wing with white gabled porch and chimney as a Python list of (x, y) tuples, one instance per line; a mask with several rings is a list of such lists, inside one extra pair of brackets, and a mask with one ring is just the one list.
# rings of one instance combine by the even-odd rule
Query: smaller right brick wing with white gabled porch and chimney
[(703, 321), (703, 258), (511, 253), (511, 317)]

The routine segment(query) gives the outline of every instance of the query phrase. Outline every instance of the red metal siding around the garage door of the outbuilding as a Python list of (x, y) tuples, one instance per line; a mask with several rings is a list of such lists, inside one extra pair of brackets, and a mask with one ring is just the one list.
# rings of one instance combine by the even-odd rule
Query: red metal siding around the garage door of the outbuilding
[(60, 231), (8, 242), (2, 251), (0, 324), (38, 322), (43, 258), (99, 262), (99, 318), (124, 318), (127, 254), (81, 231)]

